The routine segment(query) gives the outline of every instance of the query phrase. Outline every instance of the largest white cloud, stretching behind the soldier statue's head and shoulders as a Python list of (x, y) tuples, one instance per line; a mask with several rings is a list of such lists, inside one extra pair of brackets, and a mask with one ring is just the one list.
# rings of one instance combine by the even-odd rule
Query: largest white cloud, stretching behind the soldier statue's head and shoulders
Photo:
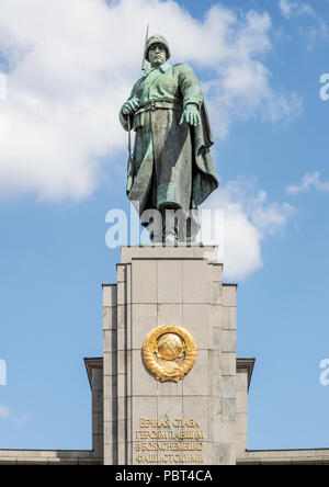
[(1, 0), (0, 18), (2, 197), (81, 200), (110, 174), (126, 147), (117, 112), (140, 73), (147, 22), (168, 37), (173, 61), (212, 70), (204, 88), (216, 137), (237, 120), (300, 110), (296, 94), (271, 86), (266, 13), (216, 5), (200, 21), (171, 0)]

